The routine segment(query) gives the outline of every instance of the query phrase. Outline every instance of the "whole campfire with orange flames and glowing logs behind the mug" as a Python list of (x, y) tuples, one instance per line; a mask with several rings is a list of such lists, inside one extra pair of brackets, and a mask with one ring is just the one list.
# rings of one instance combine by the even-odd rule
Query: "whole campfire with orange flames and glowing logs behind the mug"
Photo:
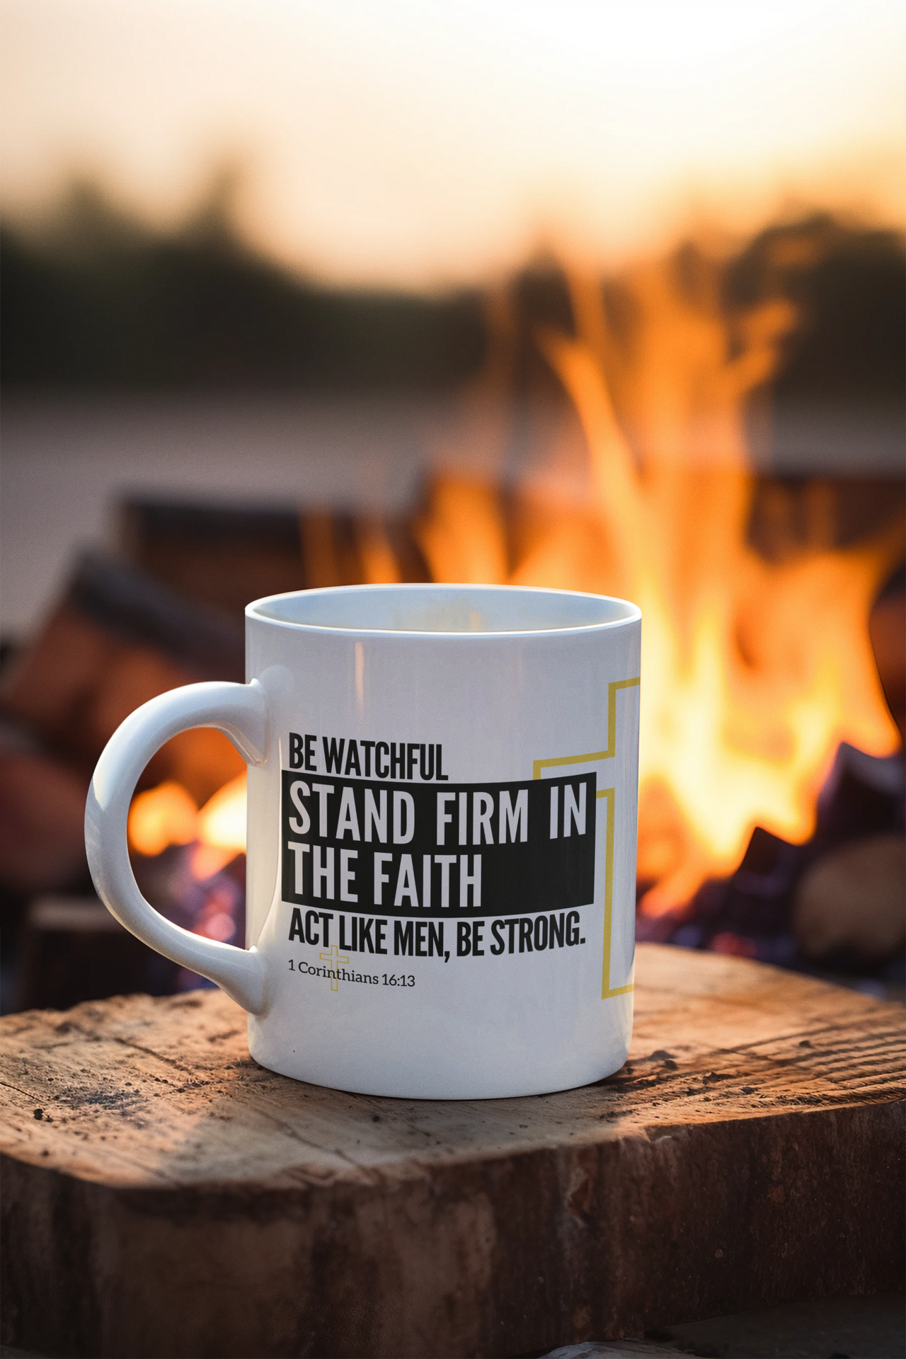
[[(869, 832), (902, 839), (896, 761), (883, 775), (872, 766), (863, 781), (888, 784), (865, 826), (846, 803), (854, 765), (841, 756), (861, 753), (868, 768), (901, 750), (891, 716), (899, 700), (886, 697), (876, 658), (883, 652), (887, 670), (896, 667), (890, 637), (902, 628), (902, 610), (894, 601), (880, 641), (869, 637), (869, 616), (903, 559), (902, 512), (894, 504), (873, 516), (871, 531), (841, 542), (839, 496), (834, 501), (827, 487), (811, 485), (793, 501), (758, 476), (754, 458), (770, 423), (773, 383), (808, 326), (791, 279), (833, 245), (834, 232), (820, 224), (767, 232), (750, 249), (742, 285), (739, 260), (685, 247), (606, 284), (566, 270), (560, 292), (543, 280), (532, 292), (523, 280), (490, 296), (482, 372), (452, 413), (425, 421), (431, 470), (418, 503), (393, 522), (303, 506), (281, 515), (277, 537), (258, 515), (255, 542), (266, 540), (269, 564), (264, 575), (253, 571), (255, 590), (243, 594), (268, 591), (266, 572), (278, 571), (274, 590), (422, 579), (553, 586), (637, 602), (640, 934), (781, 962), (796, 961), (791, 894), (815, 855)], [(198, 557), (198, 514), (182, 512), (192, 550), (181, 556), (171, 548), (179, 515), (129, 507), (133, 540), (145, 544), (136, 564), (179, 590), (185, 564)], [(228, 520), (217, 549), (224, 563), (236, 556), (240, 516)], [(213, 542), (212, 533), (205, 541)], [(250, 563), (255, 550), (249, 548)], [(224, 571), (205, 568), (197, 602), (235, 602), (242, 582)], [(230, 601), (205, 594), (227, 576)], [(145, 599), (140, 582), (105, 590), (118, 601), (121, 632), (126, 616), (134, 631), (126, 595), (136, 590), (168, 648), (167, 666), (148, 671), (145, 689), (130, 681), (132, 705), (174, 682), (240, 677), (240, 640), (238, 631), (223, 631), (225, 614), (216, 625), (205, 614), (201, 628), (179, 613), (185, 599)], [(88, 613), (98, 617), (95, 603)], [(54, 628), (58, 620), (48, 637)], [(53, 648), (46, 637), (41, 646), (48, 665)], [(35, 692), (26, 669), (7, 707), (15, 713), (18, 704), (19, 716), (39, 728), (30, 708)], [(105, 711), (115, 707), (105, 703)], [(62, 730), (54, 722), (52, 734)], [(224, 738), (194, 733), (179, 741), (149, 768), (134, 799), (136, 871), (173, 919), (238, 940), (244, 773)], [(890, 860), (890, 845), (882, 860)], [(780, 943), (761, 950), (753, 943), (761, 932)]]

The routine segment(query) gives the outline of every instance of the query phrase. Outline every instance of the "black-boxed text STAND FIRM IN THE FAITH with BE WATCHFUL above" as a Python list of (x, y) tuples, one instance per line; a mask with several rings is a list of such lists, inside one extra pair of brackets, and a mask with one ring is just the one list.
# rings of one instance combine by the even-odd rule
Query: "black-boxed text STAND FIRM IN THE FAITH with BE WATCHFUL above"
[(283, 771), (281, 796), (285, 902), (443, 919), (594, 901), (594, 773), (454, 784), (440, 745), (345, 738), (321, 745), (314, 735), (289, 738), (292, 768)]

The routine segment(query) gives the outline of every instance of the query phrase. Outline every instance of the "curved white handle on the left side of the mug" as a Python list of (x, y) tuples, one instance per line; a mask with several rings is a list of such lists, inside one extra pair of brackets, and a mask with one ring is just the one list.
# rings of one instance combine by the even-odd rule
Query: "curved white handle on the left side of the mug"
[(215, 727), (239, 754), (261, 765), (268, 749), (265, 693), (251, 684), (190, 684), (151, 699), (114, 731), (98, 761), (86, 805), (86, 851), (98, 896), (121, 925), (164, 958), (216, 981), (243, 1010), (265, 1008), (265, 968), (257, 949), (238, 949), (167, 920), (139, 892), (129, 862), (129, 803), (141, 771), (179, 731)]

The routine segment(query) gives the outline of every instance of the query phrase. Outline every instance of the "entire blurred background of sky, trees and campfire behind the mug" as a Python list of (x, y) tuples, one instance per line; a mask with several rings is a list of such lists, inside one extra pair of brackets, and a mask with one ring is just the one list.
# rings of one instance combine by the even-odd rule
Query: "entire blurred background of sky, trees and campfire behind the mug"
[[(640, 938), (902, 993), (902, 5), (0, 23), (4, 1007), (198, 984), (94, 761), (249, 599), (398, 579), (640, 602)], [(243, 798), (187, 734), (130, 822), (234, 942)]]

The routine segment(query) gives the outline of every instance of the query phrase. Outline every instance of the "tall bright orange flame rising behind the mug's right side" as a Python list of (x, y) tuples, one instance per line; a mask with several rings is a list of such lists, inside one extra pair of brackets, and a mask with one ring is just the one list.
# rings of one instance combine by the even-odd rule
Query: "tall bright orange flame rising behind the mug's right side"
[[(511, 495), (508, 535), (494, 488), (443, 477), (418, 527), (436, 580), (640, 605), (638, 877), (651, 883), (649, 915), (731, 872), (755, 826), (808, 839), (841, 741), (876, 756), (899, 745), (868, 640), (899, 535), (781, 563), (748, 546), (744, 398), (772, 375), (796, 318), (770, 302), (731, 329), (710, 284), (690, 296), (668, 264), (636, 270), (623, 280), (634, 325), (618, 342), (600, 288), (573, 281), (577, 337), (535, 338), (581, 423), (584, 504), (556, 503), (547, 477), (543, 496)], [(568, 431), (554, 442), (565, 448)]]

